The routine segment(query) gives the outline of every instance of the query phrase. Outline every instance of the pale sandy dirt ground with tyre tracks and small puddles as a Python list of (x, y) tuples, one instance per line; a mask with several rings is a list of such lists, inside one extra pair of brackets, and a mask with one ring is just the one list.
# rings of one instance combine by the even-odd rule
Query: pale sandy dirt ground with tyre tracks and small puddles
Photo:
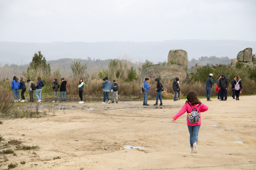
[[(227, 101), (201, 100), (209, 107), (201, 113), (198, 153), (191, 155), (186, 114), (172, 117), (185, 100), (163, 100), (163, 106), (142, 106), (142, 100), (41, 103), (56, 113), (40, 118), (2, 119), (4, 144), (11, 139), (36, 150), (0, 155), (0, 169), (256, 169), (256, 96), (228, 97)], [(36, 104), (22, 103), (24, 106)], [(59, 109), (65, 107), (66, 110)], [(93, 110), (85, 110), (91, 108)], [(125, 149), (140, 146), (145, 149)], [(9, 146), (15, 148), (15, 146)], [(54, 157), (60, 159), (53, 159)], [(4, 159), (8, 159), (4, 161)], [(25, 161), (26, 164), (20, 164)]]

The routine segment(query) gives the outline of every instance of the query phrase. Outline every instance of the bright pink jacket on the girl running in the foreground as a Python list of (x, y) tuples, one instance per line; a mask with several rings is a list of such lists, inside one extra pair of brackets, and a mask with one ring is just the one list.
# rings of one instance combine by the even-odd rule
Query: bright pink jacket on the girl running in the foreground
[[(190, 103), (190, 102), (189, 102)], [(190, 103), (191, 105), (191, 103)], [(192, 106), (192, 105), (191, 105)], [(196, 108), (198, 106), (197, 105), (193, 105), (192, 108)], [(180, 109), (180, 111), (175, 115), (173, 116), (172, 119), (176, 120), (178, 117), (180, 117), (181, 115), (183, 115), (184, 113), (187, 113), (187, 110), (188, 110), (188, 113), (190, 113), (192, 111), (192, 108), (189, 106), (189, 104), (186, 102), (184, 104), (184, 106)], [(196, 125), (200, 125), (201, 124), (201, 114), (200, 112), (205, 112), (208, 110), (208, 106), (206, 106), (205, 104), (201, 103), (201, 105), (197, 108), (197, 112), (199, 113), (199, 121), (197, 123), (190, 123), (188, 121), (188, 114), (187, 114), (187, 125), (188, 126), (196, 126)]]

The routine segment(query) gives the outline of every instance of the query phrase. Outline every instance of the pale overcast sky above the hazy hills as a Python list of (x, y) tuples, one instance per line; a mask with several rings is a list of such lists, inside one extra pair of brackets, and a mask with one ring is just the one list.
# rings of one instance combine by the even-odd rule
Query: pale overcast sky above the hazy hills
[(256, 41), (255, 0), (0, 0), (0, 41)]

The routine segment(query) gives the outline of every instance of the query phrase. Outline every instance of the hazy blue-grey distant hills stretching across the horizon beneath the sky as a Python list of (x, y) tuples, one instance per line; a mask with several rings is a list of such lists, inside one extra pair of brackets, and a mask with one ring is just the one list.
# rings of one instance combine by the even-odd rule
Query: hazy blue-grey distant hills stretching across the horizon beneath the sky
[[(154, 63), (167, 61), (171, 49), (183, 49), (188, 52), (188, 60), (201, 56), (216, 56), (236, 58), (239, 51), (245, 48), (256, 48), (255, 41), (238, 40), (172, 40), (159, 42), (52, 42), (52, 43), (24, 43), (0, 42), (0, 63), (27, 64), (31, 62), (35, 52), (39, 49), (46, 60), (61, 58), (88, 57), (105, 60), (123, 58), (132, 61)], [(254, 52), (255, 53), (255, 52)]]

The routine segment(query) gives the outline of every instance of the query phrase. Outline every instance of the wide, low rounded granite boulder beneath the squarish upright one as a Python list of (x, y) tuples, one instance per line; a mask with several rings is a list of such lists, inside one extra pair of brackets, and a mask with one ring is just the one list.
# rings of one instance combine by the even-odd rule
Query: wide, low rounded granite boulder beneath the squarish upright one
[(181, 64), (167, 64), (167, 65), (150, 65), (146, 67), (137, 82), (143, 82), (145, 78), (154, 79), (161, 78), (161, 80), (172, 80), (176, 77), (180, 78), (180, 81), (187, 78), (187, 72)]

